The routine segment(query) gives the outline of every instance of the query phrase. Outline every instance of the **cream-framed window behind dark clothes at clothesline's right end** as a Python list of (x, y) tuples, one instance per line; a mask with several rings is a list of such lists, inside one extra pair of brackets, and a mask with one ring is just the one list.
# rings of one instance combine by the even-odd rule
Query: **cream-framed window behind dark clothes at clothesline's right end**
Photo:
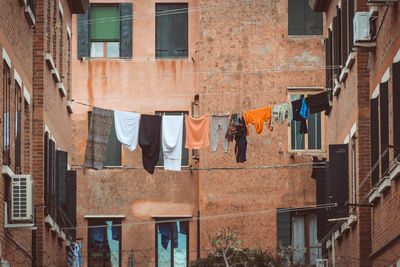
[[(290, 101), (303, 99), (307, 93), (290, 94)], [(290, 150), (322, 149), (322, 116), (321, 113), (310, 114), (307, 120), (307, 134), (300, 134), (300, 122), (292, 120), (290, 126)]]

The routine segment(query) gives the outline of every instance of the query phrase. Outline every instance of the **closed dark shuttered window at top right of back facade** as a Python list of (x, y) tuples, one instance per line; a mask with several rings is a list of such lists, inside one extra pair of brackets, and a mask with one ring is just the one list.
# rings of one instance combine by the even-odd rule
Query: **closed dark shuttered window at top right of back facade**
[(322, 35), (322, 13), (312, 11), (308, 0), (289, 0), (289, 35)]

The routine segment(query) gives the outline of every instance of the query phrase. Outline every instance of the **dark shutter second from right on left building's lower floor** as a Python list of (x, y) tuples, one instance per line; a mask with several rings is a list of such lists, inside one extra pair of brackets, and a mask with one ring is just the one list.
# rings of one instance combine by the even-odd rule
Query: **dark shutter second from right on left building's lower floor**
[[(58, 208), (58, 225), (65, 227), (65, 219), (63, 215), (67, 210), (67, 162), (68, 153), (65, 151), (57, 150), (57, 203)], [(63, 214), (64, 213), (64, 214)]]

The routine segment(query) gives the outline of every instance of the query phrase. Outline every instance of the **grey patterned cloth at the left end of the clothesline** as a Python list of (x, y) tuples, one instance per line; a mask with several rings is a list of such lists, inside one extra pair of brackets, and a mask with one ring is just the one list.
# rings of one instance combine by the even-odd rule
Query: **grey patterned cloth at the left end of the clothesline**
[(114, 121), (114, 111), (93, 108), (85, 151), (85, 167), (101, 170), (107, 156), (108, 137)]

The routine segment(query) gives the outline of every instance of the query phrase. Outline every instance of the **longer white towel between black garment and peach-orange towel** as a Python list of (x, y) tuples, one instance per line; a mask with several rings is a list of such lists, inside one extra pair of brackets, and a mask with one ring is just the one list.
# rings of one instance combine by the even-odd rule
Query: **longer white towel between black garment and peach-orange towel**
[(162, 117), (162, 148), (164, 169), (181, 170), (183, 116)]

